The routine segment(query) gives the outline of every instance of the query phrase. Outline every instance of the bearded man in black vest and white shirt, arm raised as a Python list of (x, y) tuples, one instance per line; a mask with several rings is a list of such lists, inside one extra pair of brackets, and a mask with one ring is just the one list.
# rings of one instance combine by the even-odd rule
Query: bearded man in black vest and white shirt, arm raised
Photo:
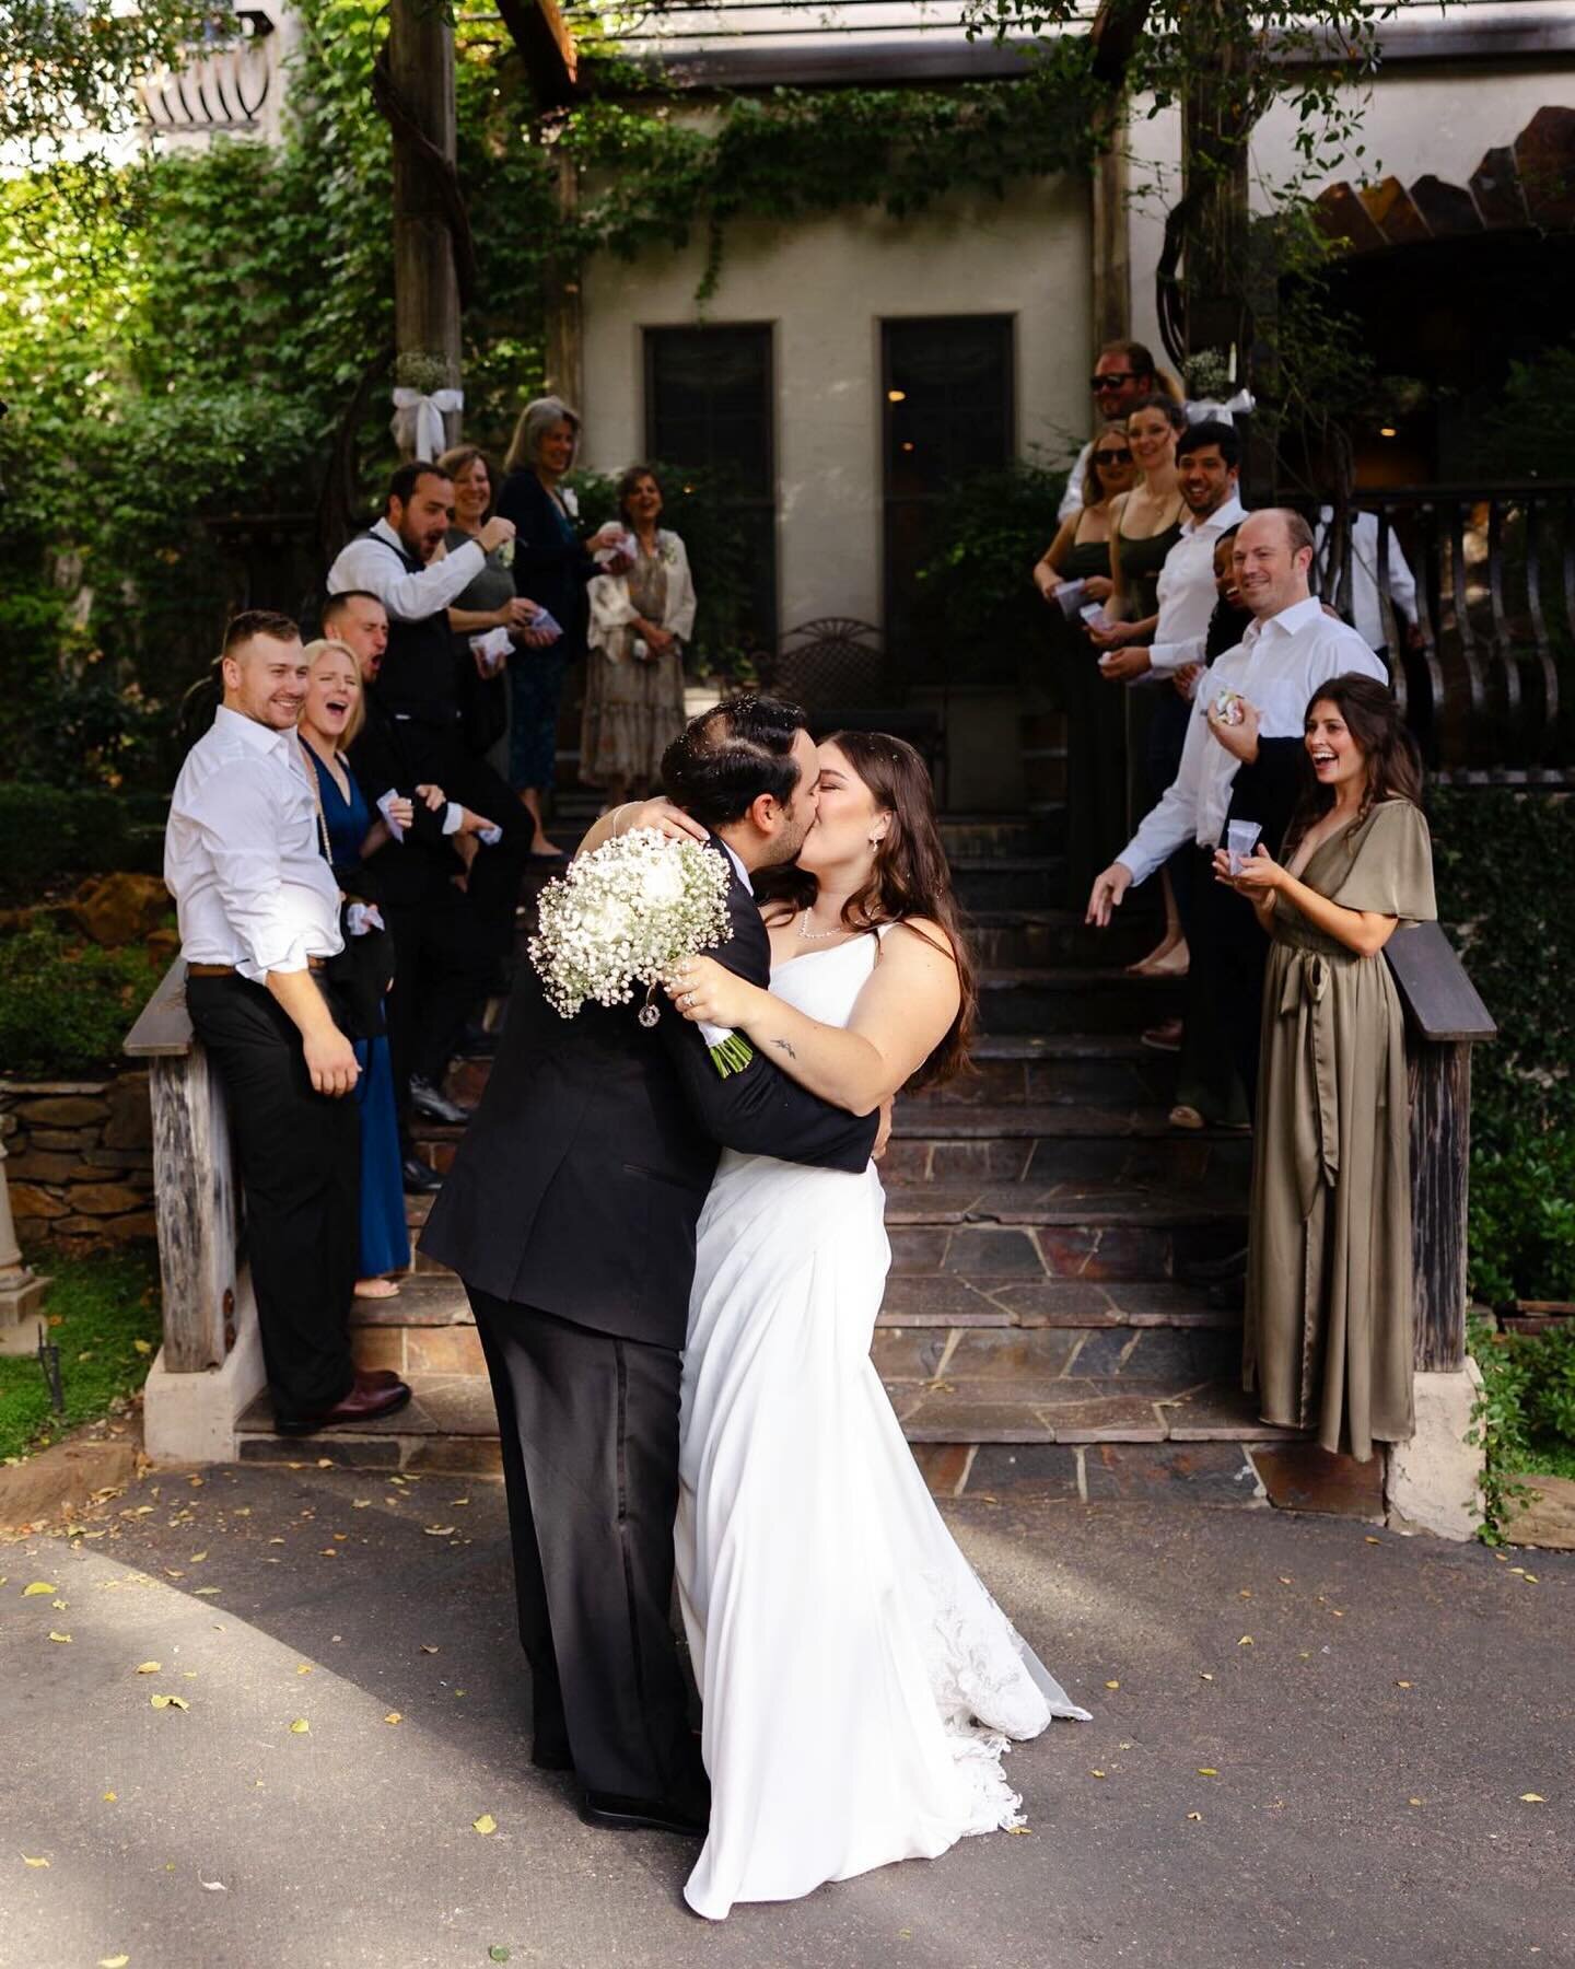
[[(492, 845), (471, 864), (469, 888), (488, 947), (506, 965), (514, 951), (514, 906), (530, 853), (530, 819), (518, 795), (461, 734), (461, 669), (469, 652), (455, 644), (449, 604), (486, 565), (486, 555), (514, 538), (514, 522), (492, 518), (474, 540), (441, 553), (453, 522), (455, 488), (447, 473), (415, 461), (388, 482), (382, 520), (358, 534), (329, 569), (329, 595), (366, 591), (388, 612), (388, 650), (370, 695), (398, 730), (417, 780), (498, 827)], [(522, 620), (526, 604), (522, 606)]]

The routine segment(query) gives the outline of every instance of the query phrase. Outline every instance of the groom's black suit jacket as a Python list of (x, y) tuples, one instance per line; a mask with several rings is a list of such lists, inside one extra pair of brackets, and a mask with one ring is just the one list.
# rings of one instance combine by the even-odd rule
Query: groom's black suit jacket
[[(713, 955), (766, 984), (770, 941), (732, 876), (732, 941)], [(835, 1109), (756, 1055), (723, 1079), (697, 1026), (658, 992), (571, 1018), (520, 967), (498, 1057), (433, 1203), (421, 1250), (467, 1286), (598, 1333), (681, 1347), (695, 1223), (719, 1146), (858, 1172), (878, 1116)]]

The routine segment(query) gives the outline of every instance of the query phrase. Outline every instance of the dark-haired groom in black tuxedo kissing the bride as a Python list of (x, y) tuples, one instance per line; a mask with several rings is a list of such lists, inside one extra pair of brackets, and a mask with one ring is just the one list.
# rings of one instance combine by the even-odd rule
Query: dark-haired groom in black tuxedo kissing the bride
[[(770, 943), (750, 872), (797, 855), (817, 774), (803, 713), (770, 697), (701, 713), (662, 760), (730, 862), (732, 941), (713, 955), (754, 984)], [(465, 1280), (492, 1376), (534, 1762), (577, 1772), (595, 1825), (707, 1821), (669, 1605), (679, 1353), (719, 1144), (858, 1172), (876, 1130), (768, 1059), (723, 1079), (671, 1010), (656, 1030), (634, 1004), (563, 1020), (520, 969), (421, 1250)]]

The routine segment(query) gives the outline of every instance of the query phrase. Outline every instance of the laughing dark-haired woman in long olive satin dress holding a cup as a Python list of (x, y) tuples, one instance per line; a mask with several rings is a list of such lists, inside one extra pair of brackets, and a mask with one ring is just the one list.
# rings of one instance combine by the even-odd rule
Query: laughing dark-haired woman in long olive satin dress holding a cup
[(1307, 707), (1307, 788), (1284, 862), (1238, 874), (1274, 951), (1252, 1162), (1244, 1386), (1264, 1422), (1366, 1461), (1412, 1412), (1406, 1028), (1382, 949), (1435, 918), (1416, 746), (1388, 689), (1345, 675)]

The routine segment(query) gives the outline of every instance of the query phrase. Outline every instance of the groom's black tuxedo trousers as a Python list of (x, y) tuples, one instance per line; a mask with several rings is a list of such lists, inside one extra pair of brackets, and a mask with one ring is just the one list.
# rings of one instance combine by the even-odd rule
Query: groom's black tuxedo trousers
[(502, 1437), (537, 1750), (587, 1792), (701, 1810), (671, 1628), (679, 1355), (465, 1288)]

